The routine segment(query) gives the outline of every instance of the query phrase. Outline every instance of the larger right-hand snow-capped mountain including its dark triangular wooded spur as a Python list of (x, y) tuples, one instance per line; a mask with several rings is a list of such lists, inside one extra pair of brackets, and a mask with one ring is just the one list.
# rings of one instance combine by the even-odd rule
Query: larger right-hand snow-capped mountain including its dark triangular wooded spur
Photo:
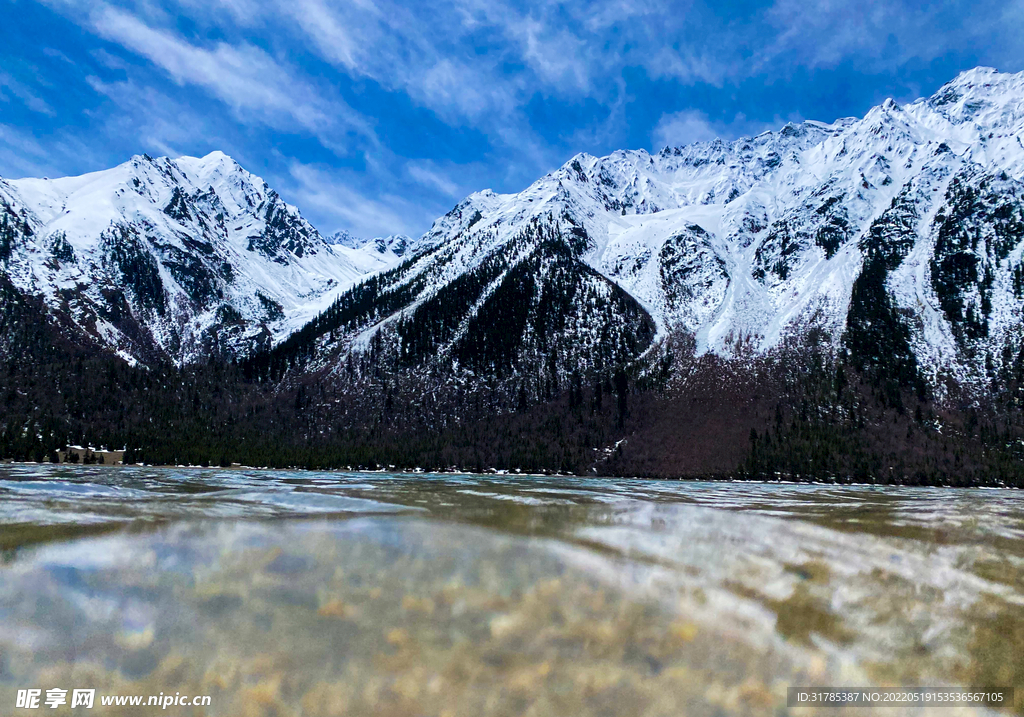
[(979, 68), (861, 119), (581, 154), (519, 194), (468, 197), (418, 247), (325, 317), (324, 361), (378, 337), (399, 363), (567, 375), (677, 331), (734, 355), (815, 327), (858, 362), (905, 351), (932, 381), (983, 380), (1024, 335), (1024, 74)]

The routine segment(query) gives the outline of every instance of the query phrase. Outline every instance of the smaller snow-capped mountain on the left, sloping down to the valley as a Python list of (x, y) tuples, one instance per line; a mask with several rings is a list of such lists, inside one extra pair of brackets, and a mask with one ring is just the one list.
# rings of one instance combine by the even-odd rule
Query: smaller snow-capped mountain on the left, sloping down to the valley
[(331, 244), (219, 152), (0, 179), (0, 270), (133, 362), (269, 345), (397, 258)]

